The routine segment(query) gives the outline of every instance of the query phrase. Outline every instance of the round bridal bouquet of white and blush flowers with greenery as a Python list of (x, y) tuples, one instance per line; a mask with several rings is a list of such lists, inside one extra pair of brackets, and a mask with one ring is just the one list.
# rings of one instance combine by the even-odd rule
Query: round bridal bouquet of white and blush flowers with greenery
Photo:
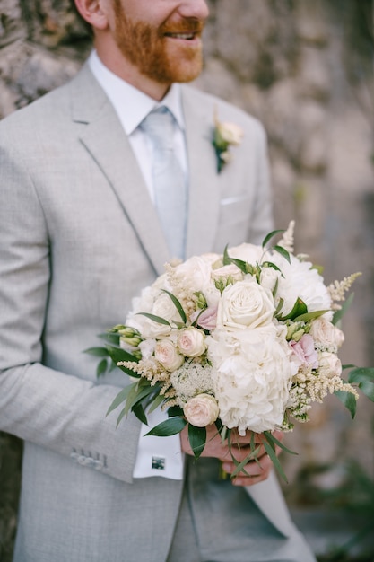
[[(130, 411), (147, 423), (147, 412), (166, 408), (168, 419), (148, 435), (173, 435), (188, 425), (196, 458), (208, 425), (215, 424), (229, 446), (234, 428), (239, 435), (261, 433), (285, 478), (275, 446), (285, 447), (275, 429), (307, 422), (312, 403), (328, 393), (344, 401), (352, 417), (356, 386), (374, 400), (374, 370), (353, 369), (345, 382), (337, 356), (344, 334), (336, 323), (360, 274), (326, 286), (306, 256), (293, 255), (293, 227), (274, 246), (269, 242), (283, 231), (268, 234), (262, 246), (244, 243), (222, 255), (167, 264), (135, 298), (125, 324), (109, 330), (118, 345), (91, 349), (108, 353), (133, 380), (109, 408), (123, 405), (118, 423)], [(253, 439), (234, 475), (257, 451)]]

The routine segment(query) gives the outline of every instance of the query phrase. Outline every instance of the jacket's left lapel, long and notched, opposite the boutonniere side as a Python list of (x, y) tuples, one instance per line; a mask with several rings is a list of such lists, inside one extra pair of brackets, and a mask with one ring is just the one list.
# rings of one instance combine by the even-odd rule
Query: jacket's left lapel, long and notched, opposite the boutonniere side
[[(170, 259), (161, 224), (131, 145), (105, 93), (87, 66), (72, 83), (73, 119), (84, 124), (80, 139), (133, 225), (157, 274)], [(83, 99), (81, 92), (91, 92)]]

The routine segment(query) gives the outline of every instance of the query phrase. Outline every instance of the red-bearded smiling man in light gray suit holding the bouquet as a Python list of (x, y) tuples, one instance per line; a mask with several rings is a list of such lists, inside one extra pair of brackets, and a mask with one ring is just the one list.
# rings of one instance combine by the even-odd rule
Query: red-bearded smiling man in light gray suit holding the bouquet
[[(234, 465), (217, 439), (195, 463), (186, 435), (143, 437), (135, 417), (117, 429), (105, 417), (126, 381), (97, 381), (83, 349), (176, 253), (262, 241), (271, 203), (262, 127), (180, 84), (201, 70), (204, 0), (75, 3), (89, 61), (0, 124), (0, 429), (25, 442), (14, 560), (312, 562), (266, 455), (222, 481), (219, 461)], [(145, 126), (160, 107), (185, 198), (171, 240)], [(243, 132), (220, 173), (214, 116)]]

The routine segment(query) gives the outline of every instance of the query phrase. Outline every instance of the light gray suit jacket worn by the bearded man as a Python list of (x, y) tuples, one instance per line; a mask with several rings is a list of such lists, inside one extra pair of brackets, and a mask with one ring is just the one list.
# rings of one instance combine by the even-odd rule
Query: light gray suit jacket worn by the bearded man
[[(215, 108), (244, 130), (221, 174)], [(262, 241), (271, 228), (262, 127), (187, 86), (183, 110), (187, 255)], [(86, 66), (0, 124), (0, 174), (0, 429), (25, 440), (15, 559), (161, 562), (181, 483), (133, 481), (139, 423), (129, 416), (116, 429), (116, 415), (105, 417), (124, 376), (98, 382), (83, 349), (124, 321), (170, 256), (128, 140)], [(248, 492), (286, 535), (275, 480)]]

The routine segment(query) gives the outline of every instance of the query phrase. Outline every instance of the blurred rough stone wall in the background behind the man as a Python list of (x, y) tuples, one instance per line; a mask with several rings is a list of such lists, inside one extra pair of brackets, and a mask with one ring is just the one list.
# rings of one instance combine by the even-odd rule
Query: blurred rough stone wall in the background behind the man
[[(210, 0), (204, 72), (196, 81), (265, 124), (276, 227), (296, 219), (296, 249), (325, 266), (327, 282), (362, 272), (343, 326), (343, 362), (358, 365), (374, 364), (372, 4)], [(0, 0), (0, 119), (68, 80), (90, 48), (68, 0)], [(300, 452), (283, 459), (291, 481), (306, 464), (339, 465), (348, 457), (373, 475), (374, 408), (364, 397), (359, 406), (352, 424), (337, 400), (328, 400), (287, 436)], [(1, 435), (0, 510), (8, 514), (12, 480), (4, 474), (17, 473), (20, 451)], [(298, 496), (292, 484), (286, 492), (290, 501)], [(14, 521), (0, 522), (0, 542)]]

